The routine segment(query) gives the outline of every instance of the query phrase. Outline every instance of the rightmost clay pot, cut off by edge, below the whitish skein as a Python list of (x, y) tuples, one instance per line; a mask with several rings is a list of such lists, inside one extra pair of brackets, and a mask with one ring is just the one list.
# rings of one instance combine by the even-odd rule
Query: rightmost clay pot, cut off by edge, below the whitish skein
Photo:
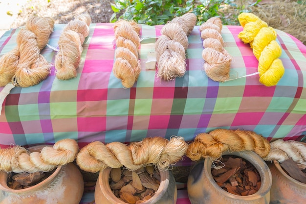
[(306, 201), (306, 184), (286, 174), (278, 161), (268, 162), (272, 174), (270, 204), (301, 204)]

